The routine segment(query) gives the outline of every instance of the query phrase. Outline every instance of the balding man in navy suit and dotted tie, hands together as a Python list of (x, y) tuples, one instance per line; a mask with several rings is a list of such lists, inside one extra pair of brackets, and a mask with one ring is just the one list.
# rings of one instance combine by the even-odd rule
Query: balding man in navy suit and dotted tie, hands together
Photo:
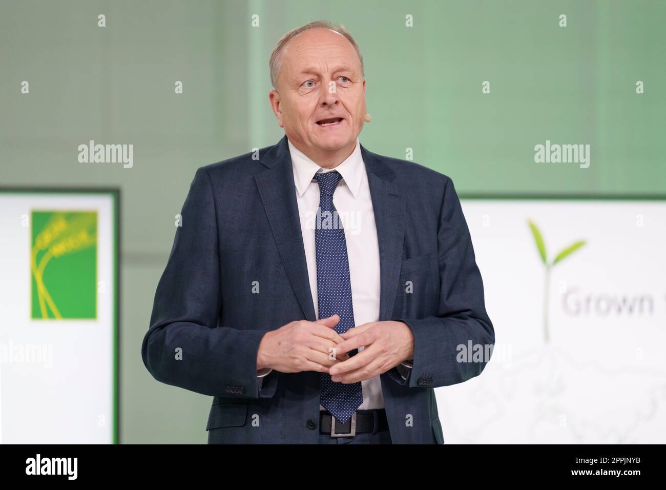
[(196, 171), (143, 361), (214, 397), (208, 443), (442, 444), (433, 388), (484, 369), (458, 346), (494, 343), (454, 185), (360, 145), (344, 27), (290, 31), (270, 70), (285, 136)]

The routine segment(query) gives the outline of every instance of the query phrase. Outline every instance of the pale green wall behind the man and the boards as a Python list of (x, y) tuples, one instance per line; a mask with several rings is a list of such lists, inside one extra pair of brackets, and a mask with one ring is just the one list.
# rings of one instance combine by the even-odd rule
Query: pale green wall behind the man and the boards
[[(371, 151), (412, 148), (459, 193), (665, 191), (664, 1), (3, 0), (0, 185), (121, 188), (122, 443), (206, 441), (210, 397), (141, 361), (174, 215), (198, 167), (280, 139), (268, 57), (318, 18), (362, 49)], [(133, 168), (79, 163), (90, 139), (133, 144)], [(589, 168), (534, 163), (547, 139)]]

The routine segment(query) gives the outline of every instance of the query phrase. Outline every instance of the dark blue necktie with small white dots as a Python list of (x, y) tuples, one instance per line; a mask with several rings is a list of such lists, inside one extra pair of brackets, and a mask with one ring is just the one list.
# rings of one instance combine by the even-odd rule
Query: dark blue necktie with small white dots
[[(342, 179), (337, 171), (318, 172), (314, 179), (319, 184), (319, 209), (314, 232), (317, 255), (317, 301), (319, 318), (335, 313), (340, 323), (334, 330), (344, 333), (354, 327), (352, 307), (352, 282), (349, 276), (349, 259), (344, 229), (333, 205), (333, 193)], [(349, 352), (356, 355), (358, 349)], [(335, 383), (328, 373), (320, 373), (320, 403), (340, 423), (346, 423), (352, 413), (363, 403), (360, 381), (352, 384)]]

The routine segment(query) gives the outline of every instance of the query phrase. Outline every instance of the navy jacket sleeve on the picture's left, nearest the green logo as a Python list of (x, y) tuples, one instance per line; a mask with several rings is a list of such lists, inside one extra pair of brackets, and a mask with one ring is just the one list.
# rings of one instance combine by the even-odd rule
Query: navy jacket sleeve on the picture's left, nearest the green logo
[(203, 395), (272, 397), (278, 376), (257, 383), (256, 356), (266, 331), (218, 326), (223, 278), (217, 211), (205, 167), (196, 171), (180, 214), (141, 346), (143, 363), (157, 381)]

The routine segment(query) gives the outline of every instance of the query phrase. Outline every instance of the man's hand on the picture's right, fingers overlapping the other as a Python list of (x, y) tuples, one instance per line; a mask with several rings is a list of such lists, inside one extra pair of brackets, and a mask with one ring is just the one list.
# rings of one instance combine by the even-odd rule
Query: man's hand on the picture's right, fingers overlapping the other
[(402, 321), (372, 321), (341, 333), (336, 353), (364, 347), (358, 354), (330, 368), (331, 380), (356, 383), (374, 378), (402, 361), (414, 358), (414, 334)]

